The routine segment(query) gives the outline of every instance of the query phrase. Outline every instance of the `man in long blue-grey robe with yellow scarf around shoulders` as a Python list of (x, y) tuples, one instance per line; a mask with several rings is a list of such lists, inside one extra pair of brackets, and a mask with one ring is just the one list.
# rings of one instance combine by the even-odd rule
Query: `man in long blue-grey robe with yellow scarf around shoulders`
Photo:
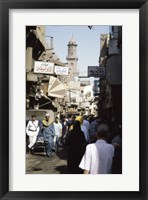
[(50, 114), (48, 113), (45, 115), (45, 119), (42, 120), (42, 133), (44, 136), (46, 156), (51, 157), (55, 154), (55, 129), (53, 122), (50, 120)]

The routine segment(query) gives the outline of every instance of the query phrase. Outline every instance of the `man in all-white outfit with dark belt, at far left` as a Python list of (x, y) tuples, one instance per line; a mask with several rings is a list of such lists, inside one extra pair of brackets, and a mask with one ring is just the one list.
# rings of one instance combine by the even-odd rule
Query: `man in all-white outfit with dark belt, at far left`
[(34, 149), (34, 144), (36, 142), (39, 130), (40, 130), (39, 121), (36, 120), (35, 115), (32, 115), (31, 120), (28, 122), (27, 127), (26, 127), (26, 133), (29, 136), (28, 148), (30, 151), (33, 151), (33, 149)]

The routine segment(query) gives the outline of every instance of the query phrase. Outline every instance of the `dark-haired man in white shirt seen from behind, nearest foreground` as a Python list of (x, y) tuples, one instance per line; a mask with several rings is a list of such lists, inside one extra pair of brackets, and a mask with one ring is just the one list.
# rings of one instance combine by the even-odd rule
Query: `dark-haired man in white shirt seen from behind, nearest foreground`
[(108, 136), (108, 126), (102, 123), (97, 128), (98, 140), (86, 147), (86, 152), (79, 167), (84, 174), (111, 174), (114, 156), (114, 146), (108, 144), (105, 139)]

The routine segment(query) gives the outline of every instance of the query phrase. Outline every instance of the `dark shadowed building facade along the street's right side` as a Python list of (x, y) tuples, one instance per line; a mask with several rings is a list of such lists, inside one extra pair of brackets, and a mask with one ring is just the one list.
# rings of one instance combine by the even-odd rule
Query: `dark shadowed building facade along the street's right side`
[(109, 35), (100, 36), (99, 66), (106, 75), (99, 81), (99, 116), (122, 122), (122, 27), (111, 26)]

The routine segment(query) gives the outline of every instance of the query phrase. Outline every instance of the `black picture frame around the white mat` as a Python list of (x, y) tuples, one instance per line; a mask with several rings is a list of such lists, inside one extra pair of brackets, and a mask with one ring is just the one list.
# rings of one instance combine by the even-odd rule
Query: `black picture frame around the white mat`
[[(139, 192), (11, 192), (9, 191), (9, 9), (139, 9), (140, 13), (140, 190)], [(0, 0), (0, 198), (1, 199), (136, 199), (146, 200), (148, 148), (146, 88), (147, 0)], [(136, 43), (136, 41), (135, 41)], [(10, 102), (11, 103), (11, 102)], [(134, 142), (134, 138), (133, 138)], [(132, 148), (132, 144), (131, 144)]]

